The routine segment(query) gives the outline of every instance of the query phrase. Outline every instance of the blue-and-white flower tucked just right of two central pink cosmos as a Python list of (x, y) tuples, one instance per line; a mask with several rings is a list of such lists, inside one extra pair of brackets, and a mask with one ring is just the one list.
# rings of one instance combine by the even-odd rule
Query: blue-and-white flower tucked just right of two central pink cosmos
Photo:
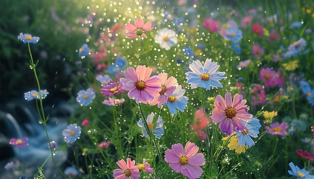
[(184, 108), (187, 105), (187, 100), (189, 100), (189, 98), (183, 96), (184, 93), (185, 89), (182, 89), (182, 86), (178, 85), (173, 94), (168, 97), (166, 105), (171, 114), (177, 114), (177, 109), (184, 111)]

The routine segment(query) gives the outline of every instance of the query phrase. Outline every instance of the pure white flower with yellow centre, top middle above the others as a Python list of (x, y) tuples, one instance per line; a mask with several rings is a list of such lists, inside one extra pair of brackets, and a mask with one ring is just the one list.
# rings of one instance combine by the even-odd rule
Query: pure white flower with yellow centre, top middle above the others
[(155, 42), (159, 43), (160, 47), (165, 50), (170, 50), (178, 42), (176, 32), (171, 29), (161, 29), (155, 36)]

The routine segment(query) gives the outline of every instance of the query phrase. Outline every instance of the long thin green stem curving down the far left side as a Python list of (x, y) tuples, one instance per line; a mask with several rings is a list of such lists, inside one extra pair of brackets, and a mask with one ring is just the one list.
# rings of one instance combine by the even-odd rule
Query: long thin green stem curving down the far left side
[[(30, 45), (29, 45), (29, 42), (27, 43), (28, 44), (28, 51), (29, 51), (29, 55), (31, 57), (31, 69), (33, 70), (34, 72), (34, 76), (35, 76), (35, 79), (36, 79), (36, 83), (37, 83), (37, 87), (38, 87), (38, 94), (39, 94), (39, 104), (40, 104), (40, 111), (41, 111), (41, 117), (43, 118), (43, 124), (44, 124), (44, 127), (45, 127), (45, 132), (46, 132), (46, 137), (47, 137), (47, 140), (48, 140), (48, 143), (49, 143), (49, 148), (50, 148), (50, 153), (51, 153), (51, 159), (52, 159), (52, 162), (54, 164), (54, 166), (56, 167), (56, 169), (58, 170), (58, 172), (65, 178), (68, 178), (61, 170), (60, 168), (58, 167), (58, 165), (56, 164), (54, 158), (53, 158), (53, 149), (51, 147), (51, 143), (50, 143), (50, 139), (49, 139), (49, 135), (48, 135), (48, 130), (47, 130), (47, 121), (48, 121), (48, 118), (46, 118), (45, 116), (45, 112), (44, 112), (44, 105), (43, 105), (43, 98), (41, 98), (41, 93), (40, 93), (40, 84), (39, 84), (39, 80), (38, 80), (38, 76), (37, 76), (37, 73), (36, 73), (36, 65), (34, 64), (34, 60), (33, 60), (33, 56), (32, 56), (32, 52), (31, 52), (31, 48), (30, 48)], [(37, 108), (38, 109), (38, 108)], [(40, 113), (40, 111), (38, 111), (38, 114)], [(40, 117), (40, 116), (39, 116)]]

